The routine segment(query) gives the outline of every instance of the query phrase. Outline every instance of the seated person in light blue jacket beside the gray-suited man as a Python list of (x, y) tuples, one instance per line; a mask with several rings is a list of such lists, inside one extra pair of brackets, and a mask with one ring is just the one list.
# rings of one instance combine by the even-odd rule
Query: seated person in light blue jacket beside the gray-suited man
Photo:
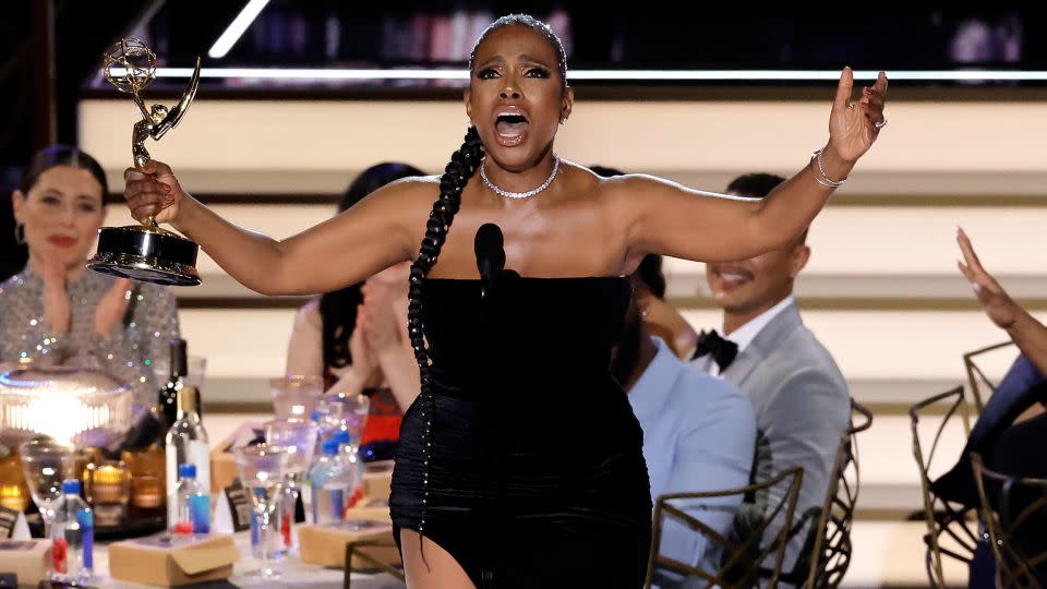
[[(612, 374), (628, 393), (643, 429), (652, 501), (667, 493), (745, 486), (756, 444), (753, 408), (737, 387), (681, 362), (662, 339), (651, 335), (646, 316), (654, 297), (640, 280), (633, 275), (633, 302), (615, 348)], [(686, 502), (676, 506), (726, 534), (742, 496), (700, 503), (714, 508), (687, 508)], [(662, 528), (661, 553), (709, 570), (715, 570), (720, 557), (717, 550), (707, 550), (705, 538), (672, 518)]]

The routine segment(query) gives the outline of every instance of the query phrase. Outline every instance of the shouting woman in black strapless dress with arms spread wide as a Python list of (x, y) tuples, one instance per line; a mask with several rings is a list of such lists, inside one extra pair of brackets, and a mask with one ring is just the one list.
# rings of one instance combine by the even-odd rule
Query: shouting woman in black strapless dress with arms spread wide
[(412, 261), (422, 392), (390, 498), (410, 587), (638, 587), (642, 434), (607, 366), (626, 276), (649, 253), (739, 260), (799, 235), (886, 123), (887, 79), (850, 103), (844, 69), (827, 145), (744, 201), (561, 159), (574, 93), (543, 23), (500, 19), (470, 70), (471, 127), (442, 176), (393, 183), (286, 240), (221, 219), (158, 161), (128, 170), (124, 196), (135, 218), (171, 223), (264, 293), (334, 290)]

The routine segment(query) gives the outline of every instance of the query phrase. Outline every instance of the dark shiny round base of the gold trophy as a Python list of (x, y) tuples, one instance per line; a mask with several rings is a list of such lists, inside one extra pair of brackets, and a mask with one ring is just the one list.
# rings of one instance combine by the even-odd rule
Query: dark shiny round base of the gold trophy
[(156, 227), (105, 227), (87, 267), (165, 286), (196, 286), (196, 243)]

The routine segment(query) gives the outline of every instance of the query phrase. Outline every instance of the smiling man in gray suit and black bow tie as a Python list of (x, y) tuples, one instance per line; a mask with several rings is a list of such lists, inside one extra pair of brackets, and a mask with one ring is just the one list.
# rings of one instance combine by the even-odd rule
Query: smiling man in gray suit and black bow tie
[[(750, 173), (732, 181), (726, 192), (763, 197), (783, 181)], [(737, 385), (753, 404), (758, 430), (754, 481), (803, 467), (797, 517), (821, 506), (851, 414), (846, 382), (804, 326), (793, 299), (793, 281), (810, 256), (806, 237), (805, 231), (793, 243), (750, 260), (707, 265), (725, 335), (703, 334), (694, 360), (699, 370)], [(757, 502), (777, 505), (786, 491), (780, 486)], [(783, 570), (792, 568), (805, 534), (806, 529), (790, 541)]]

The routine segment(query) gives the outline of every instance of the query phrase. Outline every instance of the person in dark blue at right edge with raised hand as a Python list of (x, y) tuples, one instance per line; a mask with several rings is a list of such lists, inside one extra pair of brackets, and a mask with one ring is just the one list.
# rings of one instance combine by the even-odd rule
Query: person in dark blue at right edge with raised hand
[[(1047, 455), (1042, 450), (1047, 441), (1047, 327), (1036, 321), (1007, 293), (1003, 287), (982, 266), (974, 247), (961, 229), (956, 236), (964, 262), (960, 271), (971, 281), (975, 296), (986, 315), (997, 327), (1006, 330), (1021, 352), (1007, 375), (985, 404), (956, 465), (931, 483), (931, 490), (946, 501), (980, 508), (971, 453), (978, 453), (987, 468), (1014, 477), (1047, 477)], [(989, 500), (1000, 489), (986, 489)], [(1028, 528), (1026, 528), (1027, 530)], [(1043, 533), (1034, 533), (1021, 541), (1033, 551), (1047, 550)], [(1015, 541), (1018, 541), (1015, 539)], [(977, 552), (987, 553), (979, 544)], [(995, 575), (982, 569), (975, 558), (972, 564), (972, 587), (991, 587)], [(1036, 573), (1047, 581), (1047, 565)]]

